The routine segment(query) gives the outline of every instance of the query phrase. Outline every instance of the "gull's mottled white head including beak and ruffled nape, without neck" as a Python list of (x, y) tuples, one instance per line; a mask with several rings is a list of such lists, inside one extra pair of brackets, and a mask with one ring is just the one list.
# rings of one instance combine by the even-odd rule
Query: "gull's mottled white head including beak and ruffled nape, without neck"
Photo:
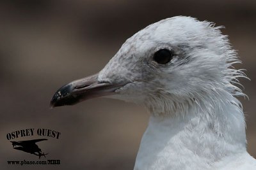
[(220, 28), (182, 16), (148, 25), (99, 73), (57, 90), (51, 106), (106, 96), (144, 104), (159, 115), (243, 95), (235, 83), (244, 75), (230, 67), (239, 60)]

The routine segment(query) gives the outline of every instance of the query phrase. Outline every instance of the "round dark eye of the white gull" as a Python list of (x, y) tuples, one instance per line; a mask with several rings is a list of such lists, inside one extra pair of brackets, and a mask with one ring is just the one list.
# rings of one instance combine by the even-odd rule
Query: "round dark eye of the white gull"
[(154, 53), (153, 59), (159, 64), (166, 64), (172, 60), (173, 53), (167, 49), (158, 50)]

